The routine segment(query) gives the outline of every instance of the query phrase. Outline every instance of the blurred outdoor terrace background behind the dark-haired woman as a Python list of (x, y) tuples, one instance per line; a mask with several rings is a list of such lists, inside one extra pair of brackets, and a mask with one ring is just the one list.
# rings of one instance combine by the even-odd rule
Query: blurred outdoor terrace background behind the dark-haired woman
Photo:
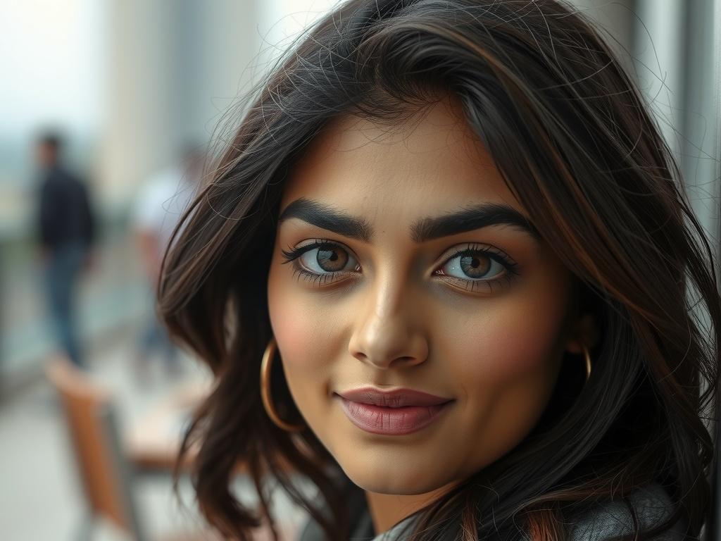
[[(640, 84), (716, 250), (721, 0), (572, 3)], [(0, 0), (3, 539), (202, 529), (168, 457), (210, 377), (154, 325), (158, 254), (218, 123), (334, 4)], [(62, 186), (82, 223), (58, 219)], [(71, 234), (90, 250), (58, 255)], [(291, 538), (302, 516), (277, 499)]]

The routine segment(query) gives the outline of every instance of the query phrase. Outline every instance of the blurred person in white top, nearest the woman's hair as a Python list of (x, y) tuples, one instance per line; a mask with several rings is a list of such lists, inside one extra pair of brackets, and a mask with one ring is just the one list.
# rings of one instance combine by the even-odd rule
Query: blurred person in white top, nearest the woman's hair
[[(195, 194), (203, 170), (204, 156), (198, 145), (187, 144), (182, 151), (182, 159), (152, 175), (136, 199), (133, 209), (136, 244), (141, 252), (153, 299), (165, 249), (182, 212)], [(138, 379), (146, 379), (149, 360), (154, 351), (162, 355), (168, 375), (180, 374), (182, 367), (177, 348), (153, 310), (138, 343)]]

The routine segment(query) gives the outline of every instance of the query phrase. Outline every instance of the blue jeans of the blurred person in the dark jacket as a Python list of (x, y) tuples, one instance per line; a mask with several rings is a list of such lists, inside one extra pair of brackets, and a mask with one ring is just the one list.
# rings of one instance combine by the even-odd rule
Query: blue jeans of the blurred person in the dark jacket
[(68, 359), (81, 368), (86, 364), (80, 348), (75, 300), (86, 255), (82, 242), (66, 242), (50, 250), (45, 268), (48, 308), (56, 338)]

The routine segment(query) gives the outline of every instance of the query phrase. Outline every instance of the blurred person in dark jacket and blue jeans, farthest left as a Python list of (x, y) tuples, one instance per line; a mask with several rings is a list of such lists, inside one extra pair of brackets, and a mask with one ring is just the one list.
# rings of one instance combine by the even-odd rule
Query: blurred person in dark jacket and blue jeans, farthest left
[(68, 359), (87, 368), (75, 304), (81, 273), (92, 267), (95, 219), (87, 187), (63, 164), (62, 149), (63, 139), (58, 133), (48, 131), (37, 139), (37, 233), (48, 309), (58, 342)]

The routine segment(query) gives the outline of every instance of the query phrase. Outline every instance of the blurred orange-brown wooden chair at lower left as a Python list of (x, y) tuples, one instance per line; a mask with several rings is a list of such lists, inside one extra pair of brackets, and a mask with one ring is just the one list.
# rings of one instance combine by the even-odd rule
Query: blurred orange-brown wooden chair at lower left
[[(123, 453), (110, 392), (60, 357), (48, 362), (45, 373), (61, 399), (89, 508), (79, 538), (89, 540), (95, 519), (102, 516), (128, 532), (133, 540), (148, 540), (133, 498), (134, 471)], [(211, 537), (192, 537), (201, 538)], [(191, 537), (185, 535), (182, 539)]]

